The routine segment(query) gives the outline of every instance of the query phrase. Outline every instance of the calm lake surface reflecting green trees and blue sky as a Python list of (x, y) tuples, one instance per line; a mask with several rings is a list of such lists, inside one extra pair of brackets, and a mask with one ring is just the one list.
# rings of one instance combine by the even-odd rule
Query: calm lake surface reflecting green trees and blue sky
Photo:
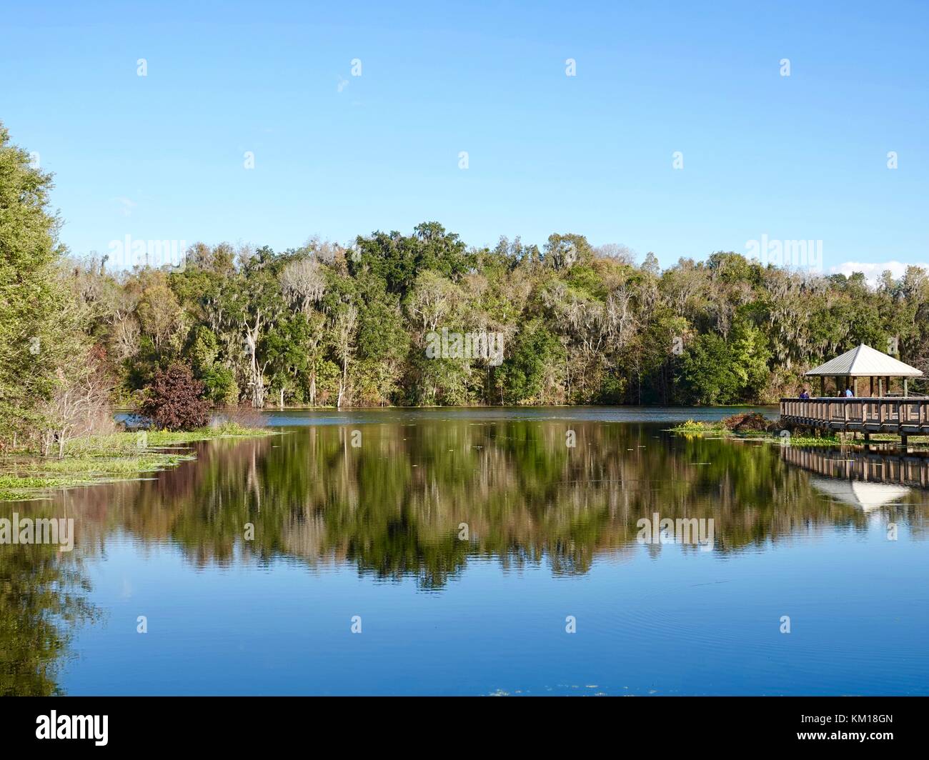
[[(77, 533), (0, 546), (0, 691), (929, 693), (927, 491), (662, 431), (728, 413), (269, 413), (285, 435), (0, 504)], [(637, 542), (654, 513), (713, 544)]]

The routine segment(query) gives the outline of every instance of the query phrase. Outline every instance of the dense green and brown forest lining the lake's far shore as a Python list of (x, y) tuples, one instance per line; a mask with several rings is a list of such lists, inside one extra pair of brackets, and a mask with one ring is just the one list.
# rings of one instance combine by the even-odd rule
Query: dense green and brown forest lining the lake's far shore
[[(0, 441), (47, 448), (178, 365), (216, 407), (766, 402), (861, 342), (929, 370), (918, 268), (876, 287), (725, 252), (661, 270), (581, 234), (475, 247), (438, 222), (124, 268), (72, 256), (50, 189), (0, 125)], [(437, 333), (503, 353), (436, 356)]]

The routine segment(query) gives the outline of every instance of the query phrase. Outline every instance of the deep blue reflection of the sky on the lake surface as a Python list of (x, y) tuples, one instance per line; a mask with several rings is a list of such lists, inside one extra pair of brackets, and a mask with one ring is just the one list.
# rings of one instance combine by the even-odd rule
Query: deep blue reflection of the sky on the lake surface
[[(353, 568), (193, 570), (123, 538), (91, 573), (105, 624), (75, 693), (925, 693), (924, 544), (883, 527), (727, 557), (665, 547), (581, 576), (469, 562), (440, 593)], [(918, 570), (922, 581), (908, 582)], [(124, 596), (124, 579), (133, 593)], [(922, 601), (922, 603), (918, 603)], [(136, 633), (146, 614), (149, 633)], [(349, 633), (353, 615), (362, 633)], [(789, 614), (792, 633), (779, 633)], [(577, 634), (565, 633), (565, 618)]]

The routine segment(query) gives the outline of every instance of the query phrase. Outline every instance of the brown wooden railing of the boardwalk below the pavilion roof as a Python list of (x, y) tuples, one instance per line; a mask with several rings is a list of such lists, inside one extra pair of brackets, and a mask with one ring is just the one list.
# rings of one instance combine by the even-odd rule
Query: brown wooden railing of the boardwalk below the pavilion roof
[(826, 430), (929, 435), (929, 398), (781, 399), (780, 419)]

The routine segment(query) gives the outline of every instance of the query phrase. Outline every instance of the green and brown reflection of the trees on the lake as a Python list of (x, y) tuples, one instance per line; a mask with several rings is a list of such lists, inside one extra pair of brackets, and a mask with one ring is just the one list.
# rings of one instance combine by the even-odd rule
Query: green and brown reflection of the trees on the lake
[[(598, 557), (631, 557), (643, 550), (637, 521), (654, 513), (713, 518), (713, 551), (737, 556), (829, 526), (864, 529), (866, 510), (890, 510), (921, 536), (927, 504), (918, 490), (882, 500), (823, 487), (843, 483), (824, 462), (848, 454), (676, 438), (648, 424), (396, 421), (294, 427), (197, 448), (196, 462), (157, 478), (66, 491), (41, 507), (5, 505), (65, 510), (77, 548), (73, 557), (0, 550), (4, 693), (57, 688), (54, 664), (70, 627), (94, 617), (80, 593), (81, 561), (105, 554), (115, 536), (168, 542), (197, 567), (290, 557), (441, 592), (471, 559), (519, 569), (544, 558), (554, 573), (578, 575)], [(895, 472), (886, 460), (883, 471)], [(250, 525), (254, 539), (245, 540)]]

